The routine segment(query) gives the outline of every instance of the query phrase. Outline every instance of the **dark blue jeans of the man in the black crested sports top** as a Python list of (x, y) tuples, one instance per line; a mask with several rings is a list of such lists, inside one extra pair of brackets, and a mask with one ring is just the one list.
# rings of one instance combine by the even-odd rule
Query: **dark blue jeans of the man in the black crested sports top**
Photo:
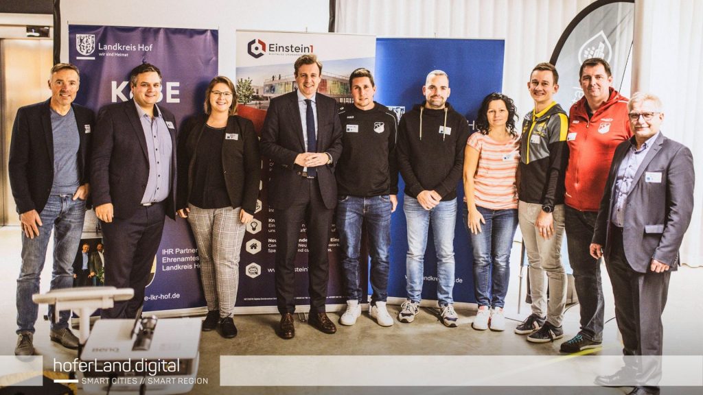
[(391, 208), (388, 195), (349, 196), (337, 199), (337, 231), (342, 245), (344, 291), (347, 299), (361, 302), (359, 247), (361, 225), (366, 221), (368, 253), (371, 257), (371, 304), (388, 298), (388, 268), (391, 246)]

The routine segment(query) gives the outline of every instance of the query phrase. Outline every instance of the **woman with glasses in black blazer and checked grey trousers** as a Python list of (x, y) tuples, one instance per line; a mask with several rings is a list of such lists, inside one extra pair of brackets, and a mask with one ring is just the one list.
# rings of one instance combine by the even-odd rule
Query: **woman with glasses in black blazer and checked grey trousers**
[(236, 114), (237, 94), (227, 77), (205, 90), (205, 114), (183, 125), (178, 147), (176, 207), (188, 219), (200, 256), (207, 317), (202, 330), (237, 335), (232, 313), (239, 283), (245, 226), (254, 217), (261, 180), (254, 124)]

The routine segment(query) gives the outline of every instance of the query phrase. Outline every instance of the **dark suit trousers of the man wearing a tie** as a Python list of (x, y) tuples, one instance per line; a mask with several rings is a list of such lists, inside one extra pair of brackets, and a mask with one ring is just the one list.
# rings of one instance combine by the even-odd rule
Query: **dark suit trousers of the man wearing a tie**
[(329, 278), (328, 245), (334, 209), (325, 207), (317, 179), (304, 190), (290, 191), (288, 207), (276, 209), (276, 299), (278, 311), (295, 312), (295, 258), (303, 221), (307, 229), (310, 312), (323, 313)]

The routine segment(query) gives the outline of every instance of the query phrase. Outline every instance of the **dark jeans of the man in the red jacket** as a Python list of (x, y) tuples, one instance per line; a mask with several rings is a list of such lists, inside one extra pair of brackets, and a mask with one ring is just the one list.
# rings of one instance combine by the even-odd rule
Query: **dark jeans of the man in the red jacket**
[(603, 287), (599, 261), (593, 259), (589, 251), (597, 217), (598, 212), (582, 212), (566, 206), (567, 247), (581, 308), (581, 335), (600, 341), (603, 337)]

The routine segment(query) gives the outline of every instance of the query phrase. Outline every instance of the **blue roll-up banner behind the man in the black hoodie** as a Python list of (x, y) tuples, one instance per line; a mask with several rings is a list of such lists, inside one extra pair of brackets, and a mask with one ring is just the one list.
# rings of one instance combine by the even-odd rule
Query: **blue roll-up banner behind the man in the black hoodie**
[[(425, 77), (432, 70), (444, 70), (449, 75), (450, 103), (466, 117), (475, 131), (476, 114), (483, 98), (500, 92), (503, 86), (505, 41), (482, 39), (389, 39), (376, 40), (375, 80), (376, 100), (389, 106), (401, 117), (413, 105), (423, 103)], [(389, 302), (402, 302), (406, 292), (406, 253), (408, 250), (406, 219), (403, 212), (404, 182), (400, 181), (398, 208), (392, 216), (391, 263), (388, 283)], [(463, 183), (457, 185), (456, 261), (454, 300), (476, 302), (473, 285), (472, 247), (463, 225)], [(437, 256), (432, 227), (425, 252), (422, 297), (437, 300)], [(397, 298), (397, 299), (394, 299)], [(394, 300), (393, 300), (394, 299)]]

